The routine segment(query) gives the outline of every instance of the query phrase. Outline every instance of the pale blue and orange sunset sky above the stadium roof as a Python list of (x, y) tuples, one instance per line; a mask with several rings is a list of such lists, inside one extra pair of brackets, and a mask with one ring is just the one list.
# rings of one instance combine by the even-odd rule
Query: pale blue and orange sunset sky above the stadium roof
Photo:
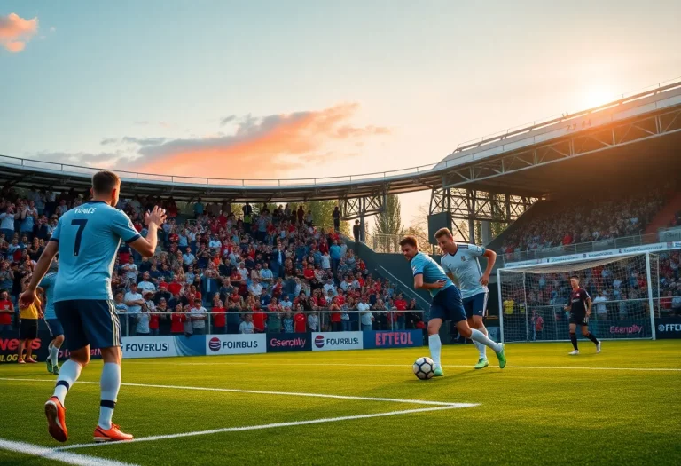
[[(681, 2), (0, 3), (0, 154), (219, 178), (438, 162), (681, 76)], [(403, 219), (428, 194), (403, 196)]]

